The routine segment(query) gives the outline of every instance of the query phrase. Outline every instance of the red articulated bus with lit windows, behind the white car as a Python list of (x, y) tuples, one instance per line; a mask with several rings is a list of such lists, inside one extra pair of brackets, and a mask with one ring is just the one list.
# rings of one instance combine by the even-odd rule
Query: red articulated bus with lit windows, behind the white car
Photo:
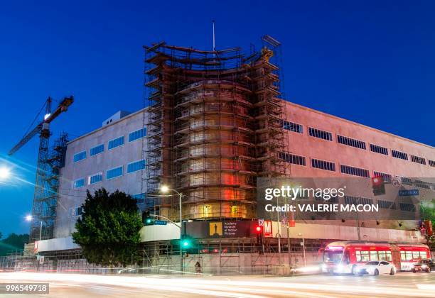
[(319, 250), (322, 272), (354, 273), (356, 265), (385, 260), (397, 270), (412, 270), (418, 260), (431, 258), (429, 247), (421, 243), (382, 241), (335, 241)]

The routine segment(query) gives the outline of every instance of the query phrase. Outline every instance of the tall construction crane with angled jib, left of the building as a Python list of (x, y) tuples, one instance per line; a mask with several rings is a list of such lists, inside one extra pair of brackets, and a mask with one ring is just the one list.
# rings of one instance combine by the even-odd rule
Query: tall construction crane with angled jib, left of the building
[[(8, 153), (9, 155), (13, 155), (14, 153), (16, 153), (16, 151), (23, 147), (23, 145), (26, 145), (29, 140), (31, 140), (39, 133), (40, 138), (38, 162), (36, 166), (36, 182), (35, 193), (33, 197), (30, 233), (31, 242), (53, 237), (55, 207), (57, 206), (58, 195), (58, 175), (53, 175), (53, 171), (56, 172), (58, 171), (58, 169), (55, 169), (55, 167), (53, 167), (53, 158), (49, 157), (48, 152), (48, 145), (50, 140), (50, 123), (55, 118), (58, 118), (60, 114), (68, 110), (68, 107), (74, 102), (74, 97), (65, 97), (62, 101), (60, 101), (58, 107), (53, 112), (51, 111), (52, 101), (53, 99), (51, 97), (48, 97), (48, 99), (45, 101), (45, 104), (41, 108), (41, 111), (43, 111), (43, 109), (45, 108), (45, 114), (41, 123), (38, 123), (35, 127), (33, 127), (33, 124), (41, 115), (41, 111), (39, 111), (39, 113), (36, 115), (35, 120), (33, 120), (31, 127), (24, 134), (23, 138)], [(67, 138), (65, 137), (65, 135), (61, 138), (61, 140), (65, 149), (67, 142)], [(61, 153), (60, 151), (58, 152)], [(65, 150), (63, 150), (62, 154), (64, 153)]]

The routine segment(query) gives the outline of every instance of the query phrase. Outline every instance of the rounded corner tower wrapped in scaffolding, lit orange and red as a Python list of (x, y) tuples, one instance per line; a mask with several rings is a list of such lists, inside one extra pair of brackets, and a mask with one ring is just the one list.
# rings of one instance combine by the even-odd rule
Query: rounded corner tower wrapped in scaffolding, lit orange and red
[[(266, 35), (261, 51), (204, 51), (166, 43), (146, 46), (149, 106), (146, 197), (166, 184), (183, 193), (183, 219), (252, 219), (257, 177), (285, 174), (279, 99), (280, 43)], [(178, 199), (154, 212), (179, 219)]]

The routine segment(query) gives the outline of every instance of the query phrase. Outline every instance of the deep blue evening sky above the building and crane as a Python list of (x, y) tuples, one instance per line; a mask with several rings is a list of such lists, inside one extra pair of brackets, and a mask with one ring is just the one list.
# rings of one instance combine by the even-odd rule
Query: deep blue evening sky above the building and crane
[[(75, 96), (53, 123), (73, 136), (119, 109), (140, 109), (142, 45), (209, 50), (212, 19), (218, 49), (248, 51), (264, 34), (281, 41), (290, 101), (435, 145), (434, 1), (8, 2), (0, 7), (0, 158), (49, 95)], [(29, 182), (37, 146), (34, 138), (13, 159)], [(0, 184), (0, 231), (27, 233), (33, 187), (11, 183)]]

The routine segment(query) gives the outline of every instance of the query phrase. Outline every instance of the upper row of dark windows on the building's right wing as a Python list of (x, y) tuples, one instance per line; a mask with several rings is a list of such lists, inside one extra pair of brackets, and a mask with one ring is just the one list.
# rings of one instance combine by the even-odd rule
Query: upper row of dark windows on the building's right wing
[[(283, 128), (286, 129), (287, 131), (294, 131), (296, 133), (303, 133), (304, 132), (304, 128), (301, 124), (290, 122), (290, 121), (285, 121), (285, 120), (283, 121)], [(308, 135), (312, 136), (314, 138), (321, 138), (323, 140), (329, 140), (331, 142), (333, 140), (332, 133), (330, 133), (329, 131), (322, 131), (322, 130), (317, 129), (317, 128), (308, 127)], [(337, 135), (337, 143), (366, 150), (365, 141), (357, 140), (355, 138), (348, 138), (345, 136)], [(374, 153), (388, 155), (388, 149), (385, 147), (382, 147), (380, 145), (370, 144), (370, 151), (372, 151)], [(401, 152), (401, 151), (398, 151), (398, 150), (391, 150), (391, 155), (393, 158), (408, 160), (408, 154)], [(421, 158), (417, 155), (411, 155), (411, 160), (412, 160), (412, 162), (417, 162), (421, 165), (426, 165), (426, 159)], [(435, 167), (435, 160), (428, 160), (428, 161), (429, 161), (429, 165), (431, 167)]]

